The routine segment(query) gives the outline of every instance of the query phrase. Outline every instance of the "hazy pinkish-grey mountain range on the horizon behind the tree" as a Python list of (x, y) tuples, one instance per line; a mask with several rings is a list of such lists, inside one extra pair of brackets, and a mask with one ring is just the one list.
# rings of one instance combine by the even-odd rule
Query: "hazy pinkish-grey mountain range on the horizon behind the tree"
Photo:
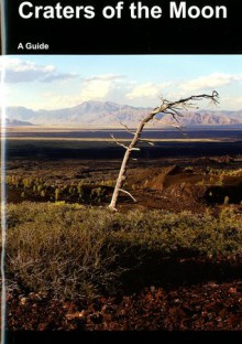
[[(78, 106), (57, 110), (32, 110), (25, 107), (8, 107), (8, 126), (59, 126), (59, 127), (136, 127), (140, 119), (152, 108), (119, 105), (112, 101), (84, 101)], [(242, 110), (188, 111), (179, 118), (182, 126), (242, 125)], [(158, 115), (155, 127), (174, 122), (170, 115)]]

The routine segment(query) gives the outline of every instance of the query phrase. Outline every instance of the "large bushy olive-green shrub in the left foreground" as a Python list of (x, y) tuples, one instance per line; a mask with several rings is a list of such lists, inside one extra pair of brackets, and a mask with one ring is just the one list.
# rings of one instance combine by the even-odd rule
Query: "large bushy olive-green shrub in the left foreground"
[(55, 295), (113, 290), (121, 268), (114, 266), (109, 236), (105, 222), (79, 205), (9, 205), (8, 275), (28, 289)]

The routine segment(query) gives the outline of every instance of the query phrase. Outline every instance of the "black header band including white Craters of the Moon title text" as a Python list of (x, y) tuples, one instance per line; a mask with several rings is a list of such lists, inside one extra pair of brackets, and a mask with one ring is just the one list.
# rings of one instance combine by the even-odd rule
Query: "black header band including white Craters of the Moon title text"
[(3, 0), (3, 54), (241, 54), (239, 0)]

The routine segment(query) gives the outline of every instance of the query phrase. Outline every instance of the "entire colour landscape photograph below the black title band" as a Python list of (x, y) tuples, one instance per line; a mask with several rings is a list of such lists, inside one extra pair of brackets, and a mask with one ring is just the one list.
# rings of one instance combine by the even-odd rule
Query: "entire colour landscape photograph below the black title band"
[(1, 64), (6, 329), (242, 330), (242, 55)]

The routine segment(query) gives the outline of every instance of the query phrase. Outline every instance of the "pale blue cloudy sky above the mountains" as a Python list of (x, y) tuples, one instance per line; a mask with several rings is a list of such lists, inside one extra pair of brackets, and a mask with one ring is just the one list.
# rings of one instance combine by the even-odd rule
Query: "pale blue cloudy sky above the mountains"
[(156, 107), (161, 98), (217, 90), (215, 109), (242, 109), (242, 55), (8, 55), (0, 71), (6, 106), (59, 109), (109, 100)]

